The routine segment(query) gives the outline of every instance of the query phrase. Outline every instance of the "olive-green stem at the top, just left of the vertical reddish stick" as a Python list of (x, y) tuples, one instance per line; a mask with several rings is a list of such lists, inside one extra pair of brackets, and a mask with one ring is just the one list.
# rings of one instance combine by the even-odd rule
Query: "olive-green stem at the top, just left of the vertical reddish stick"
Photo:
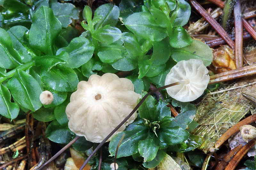
[(227, 24), (229, 19), (231, 18), (232, 10), (235, 3), (233, 0), (227, 0), (223, 9), (223, 17), (222, 17), (222, 27), (227, 30)]

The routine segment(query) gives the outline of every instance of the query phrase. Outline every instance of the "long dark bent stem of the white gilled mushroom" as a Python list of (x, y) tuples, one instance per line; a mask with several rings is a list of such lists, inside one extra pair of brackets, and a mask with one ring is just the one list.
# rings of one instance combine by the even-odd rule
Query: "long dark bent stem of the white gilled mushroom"
[[(159, 87), (157, 89), (154, 89), (150, 92), (148, 92), (141, 100), (140, 102), (135, 106), (135, 108), (132, 110), (132, 112), (114, 129), (112, 130), (112, 132), (110, 132), (108, 134), (107, 137), (105, 137), (105, 139), (103, 139), (103, 141), (94, 149), (94, 151), (92, 151), (91, 155), (84, 161), (84, 164), (80, 167), (79, 170), (82, 170), (84, 168), (84, 166), (89, 162), (89, 160), (92, 158), (92, 156), (100, 149), (100, 147), (132, 116), (132, 114), (134, 112), (137, 111), (137, 109), (140, 107), (140, 105), (144, 102), (144, 100), (152, 93), (156, 92), (156, 91), (159, 91), (159, 90), (162, 90), (162, 89), (166, 89), (168, 87), (172, 87), (172, 86), (176, 86), (178, 84), (180, 84), (181, 82), (176, 82), (176, 83), (172, 83), (172, 84), (168, 84), (166, 86), (162, 86), (162, 87)], [(47, 161), (48, 162), (48, 161)]]

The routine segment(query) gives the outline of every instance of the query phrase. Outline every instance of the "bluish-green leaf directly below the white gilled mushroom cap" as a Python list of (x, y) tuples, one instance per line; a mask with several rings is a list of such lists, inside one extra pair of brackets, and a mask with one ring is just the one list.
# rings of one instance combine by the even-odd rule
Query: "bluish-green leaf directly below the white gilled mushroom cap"
[(183, 108), (182, 112), (176, 116), (171, 123), (172, 127), (179, 126), (183, 129), (188, 128), (189, 123), (191, 123), (196, 116), (196, 106), (194, 104), (188, 104)]

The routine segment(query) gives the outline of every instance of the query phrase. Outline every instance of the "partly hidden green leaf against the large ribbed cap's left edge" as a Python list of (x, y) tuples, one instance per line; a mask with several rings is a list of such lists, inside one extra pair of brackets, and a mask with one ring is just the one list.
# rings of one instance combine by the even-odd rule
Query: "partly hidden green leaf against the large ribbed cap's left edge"
[(66, 107), (69, 103), (69, 99), (67, 99), (65, 102), (62, 104), (58, 105), (54, 109), (54, 116), (56, 120), (61, 124), (67, 124), (68, 123), (68, 118), (66, 115)]

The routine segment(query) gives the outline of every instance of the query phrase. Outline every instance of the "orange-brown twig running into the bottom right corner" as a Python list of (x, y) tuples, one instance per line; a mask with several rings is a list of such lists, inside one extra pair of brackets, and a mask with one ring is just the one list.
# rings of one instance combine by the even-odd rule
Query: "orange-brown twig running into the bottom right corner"
[(255, 140), (252, 139), (250, 142), (248, 142), (246, 145), (243, 146), (243, 148), (237, 152), (237, 154), (234, 156), (234, 158), (231, 159), (228, 166), (225, 168), (225, 170), (234, 170), (240, 160), (244, 157), (244, 155), (255, 145)]

